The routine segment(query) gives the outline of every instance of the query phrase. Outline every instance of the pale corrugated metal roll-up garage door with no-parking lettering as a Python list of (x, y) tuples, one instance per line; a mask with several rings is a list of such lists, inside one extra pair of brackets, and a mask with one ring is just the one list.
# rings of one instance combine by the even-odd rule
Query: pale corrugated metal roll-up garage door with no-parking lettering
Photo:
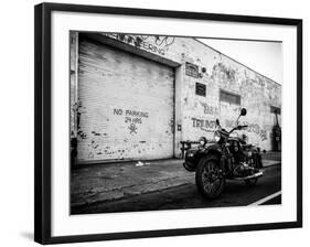
[(171, 158), (173, 68), (84, 39), (78, 50), (78, 160)]

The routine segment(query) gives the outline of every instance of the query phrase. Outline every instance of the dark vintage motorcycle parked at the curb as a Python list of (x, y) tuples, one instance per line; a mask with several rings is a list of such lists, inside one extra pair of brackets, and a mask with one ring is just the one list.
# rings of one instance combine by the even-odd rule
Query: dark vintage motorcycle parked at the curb
[(226, 180), (244, 181), (247, 185), (255, 185), (263, 176), (260, 149), (248, 144), (243, 138), (232, 137), (236, 130), (246, 129), (238, 125), (242, 116), (246, 116), (242, 108), (237, 125), (231, 131), (221, 127), (216, 119), (217, 130), (209, 141), (202, 137), (197, 148), (190, 148), (185, 153), (183, 167), (195, 172), (195, 182), (199, 192), (206, 198), (215, 198), (224, 190)]

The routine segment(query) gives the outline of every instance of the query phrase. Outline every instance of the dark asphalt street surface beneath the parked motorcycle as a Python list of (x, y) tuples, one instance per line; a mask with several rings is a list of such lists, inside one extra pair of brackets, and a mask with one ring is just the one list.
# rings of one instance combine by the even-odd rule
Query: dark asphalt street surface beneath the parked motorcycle
[[(162, 191), (145, 193), (139, 196), (93, 203), (72, 208), (72, 214), (99, 214), (189, 208), (212, 208), (231, 206), (257, 206), (281, 204), (281, 165), (265, 169), (264, 176), (255, 186), (243, 182), (227, 181), (223, 193), (216, 200), (204, 198), (195, 186), (195, 181)], [(270, 195), (277, 197), (265, 201)], [(264, 198), (264, 200), (263, 200)]]

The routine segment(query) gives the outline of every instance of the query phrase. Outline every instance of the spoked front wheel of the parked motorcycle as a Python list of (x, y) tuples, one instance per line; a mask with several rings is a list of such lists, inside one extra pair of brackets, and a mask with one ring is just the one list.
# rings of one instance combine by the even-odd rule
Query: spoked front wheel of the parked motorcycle
[(206, 198), (217, 197), (224, 190), (225, 179), (221, 174), (220, 160), (216, 155), (203, 158), (197, 165), (196, 186)]

